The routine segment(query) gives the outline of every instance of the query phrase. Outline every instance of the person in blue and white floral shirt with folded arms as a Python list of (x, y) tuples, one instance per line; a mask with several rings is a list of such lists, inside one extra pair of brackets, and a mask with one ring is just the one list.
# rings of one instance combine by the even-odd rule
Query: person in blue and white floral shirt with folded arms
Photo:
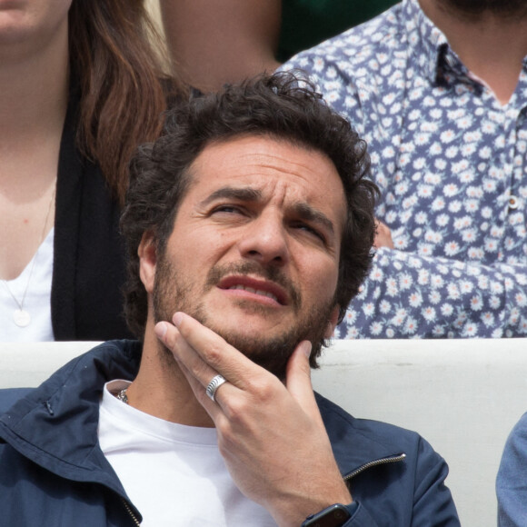
[(525, 0), (403, 0), (283, 66), (363, 136), (382, 191), (335, 337), (527, 335), (525, 55)]

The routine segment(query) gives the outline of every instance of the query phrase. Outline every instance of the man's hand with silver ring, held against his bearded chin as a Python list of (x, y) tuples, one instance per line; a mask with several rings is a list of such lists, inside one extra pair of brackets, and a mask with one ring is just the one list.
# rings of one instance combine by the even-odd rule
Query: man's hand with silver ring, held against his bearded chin
[[(234, 482), (278, 525), (298, 527), (328, 505), (352, 502), (314, 399), (310, 343), (295, 349), (283, 384), (184, 313), (155, 331), (213, 419)], [(205, 387), (218, 373), (227, 383), (214, 403)]]

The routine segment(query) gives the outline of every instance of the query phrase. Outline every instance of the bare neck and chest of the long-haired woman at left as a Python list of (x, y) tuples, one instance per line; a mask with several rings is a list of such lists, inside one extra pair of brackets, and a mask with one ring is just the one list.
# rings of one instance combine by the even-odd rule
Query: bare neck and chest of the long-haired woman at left
[(55, 223), (53, 204), (46, 214), (68, 104), (67, 16), (47, 31), (23, 22), (0, 28), (0, 278), (5, 280), (22, 273)]

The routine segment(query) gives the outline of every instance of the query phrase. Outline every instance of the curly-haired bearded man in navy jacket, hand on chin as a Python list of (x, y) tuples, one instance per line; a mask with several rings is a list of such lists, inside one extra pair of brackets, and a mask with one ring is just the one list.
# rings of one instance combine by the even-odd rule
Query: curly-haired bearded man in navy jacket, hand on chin
[(122, 218), (140, 340), (4, 413), (6, 522), (459, 525), (428, 443), (313, 393), (371, 261), (367, 171), (363, 141), (293, 75), (178, 104), (134, 158)]

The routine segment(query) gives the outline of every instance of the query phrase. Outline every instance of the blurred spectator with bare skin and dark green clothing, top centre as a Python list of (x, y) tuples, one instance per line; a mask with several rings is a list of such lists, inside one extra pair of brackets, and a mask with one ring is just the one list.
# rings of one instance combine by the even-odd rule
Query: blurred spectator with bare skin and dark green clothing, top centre
[(178, 71), (214, 90), (361, 24), (394, 0), (160, 0)]

